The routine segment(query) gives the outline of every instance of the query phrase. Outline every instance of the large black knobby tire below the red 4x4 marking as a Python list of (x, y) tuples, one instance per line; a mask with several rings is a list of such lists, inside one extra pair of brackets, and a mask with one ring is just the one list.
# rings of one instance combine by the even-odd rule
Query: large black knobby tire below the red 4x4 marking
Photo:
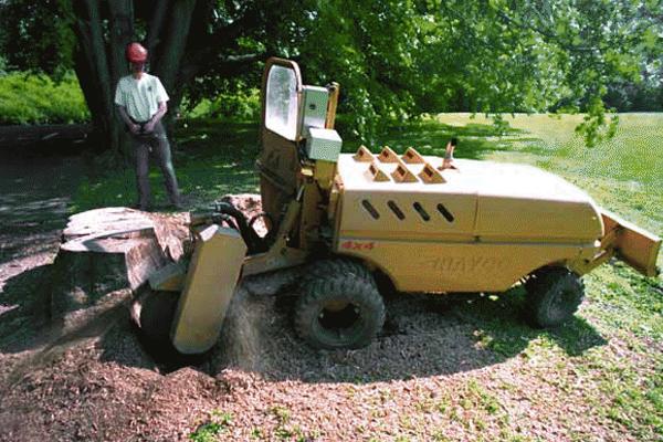
[(385, 324), (385, 303), (360, 264), (333, 262), (324, 275), (304, 278), (295, 305), (295, 329), (315, 348), (366, 347)]

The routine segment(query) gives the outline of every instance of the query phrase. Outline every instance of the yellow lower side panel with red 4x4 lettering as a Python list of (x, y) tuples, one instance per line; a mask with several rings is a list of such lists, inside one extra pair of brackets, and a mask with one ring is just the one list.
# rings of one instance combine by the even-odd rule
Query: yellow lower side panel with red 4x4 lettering
[(534, 270), (592, 256), (591, 244), (443, 243), (340, 238), (337, 252), (385, 271), (403, 292), (502, 292)]

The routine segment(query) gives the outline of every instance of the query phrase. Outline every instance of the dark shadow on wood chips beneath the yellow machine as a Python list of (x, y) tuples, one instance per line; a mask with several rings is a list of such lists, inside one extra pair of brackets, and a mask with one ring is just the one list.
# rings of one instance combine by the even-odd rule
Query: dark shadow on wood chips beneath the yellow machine
[(295, 296), (240, 294), (219, 345), (198, 369), (217, 376), (239, 367), (272, 380), (367, 383), (476, 370), (515, 357), (539, 338), (570, 356), (606, 344), (580, 317), (557, 330), (528, 327), (518, 291), (498, 301), (388, 296), (387, 322), (376, 341), (359, 350), (333, 351), (313, 349), (296, 336), (291, 319)]

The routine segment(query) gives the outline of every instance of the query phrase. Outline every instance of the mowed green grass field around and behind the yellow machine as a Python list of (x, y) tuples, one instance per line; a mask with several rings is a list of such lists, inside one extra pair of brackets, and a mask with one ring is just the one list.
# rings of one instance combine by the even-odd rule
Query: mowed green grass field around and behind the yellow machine
[[(424, 155), (440, 155), (446, 140), (457, 136), (456, 157), (541, 167), (585, 189), (600, 206), (663, 234), (663, 114), (622, 114), (617, 136), (591, 149), (573, 133), (581, 116), (516, 115), (506, 120), (511, 129), (499, 134), (481, 116), (444, 114), (391, 127), (369, 147), (403, 151), (413, 146)], [(257, 191), (255, 124), (190, 122), (177, 129), (175, 139), (176, 170), (190, 206), (203, 208), (223, 193)], [(344, 150), (358, 145), (346, 138)], [(160, 172), (155, 169), (151, 177), (152, 189), (164, 199)], [(131, 171), (118, 172), (85, 182), (74, 209), (128, 204), (134, 192)], [(586, 302), (576, 319), (550, 332), (523, 324), (519, 287), (455, 303), (453, 312), (470, 324), (476, 348), (493, 352), (499, 362), (435, 376), (435, 396), (422, 393), (388, 432), (357, 430), (357, 439), (662, 441), (663, 282), (614, 261), (587, 275), (585, 283)], [(407, 382), (413, 394), (418, 381)], [(387, 387), (381, 382), (379, 388)], [(375, 407), (378, 413), (385, 406)], [(191, 438), (224, 440), (233, 432), (232, 418), (227, 410), (210, 410), (209, 424), (192, 430)], [(306, 421), (305, 415), (292, 418)], [(317, 434), (311, 428), (255, 433), (271, 440)]]

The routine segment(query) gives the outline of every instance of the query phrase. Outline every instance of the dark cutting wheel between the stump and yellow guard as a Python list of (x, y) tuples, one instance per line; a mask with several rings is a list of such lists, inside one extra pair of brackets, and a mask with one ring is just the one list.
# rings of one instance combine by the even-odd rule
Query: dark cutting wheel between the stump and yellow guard
[(140, 332), (146, 344), (170, 351), (170, 326), (179, 299), (179, 292), (150, 292), (140, 306)]

